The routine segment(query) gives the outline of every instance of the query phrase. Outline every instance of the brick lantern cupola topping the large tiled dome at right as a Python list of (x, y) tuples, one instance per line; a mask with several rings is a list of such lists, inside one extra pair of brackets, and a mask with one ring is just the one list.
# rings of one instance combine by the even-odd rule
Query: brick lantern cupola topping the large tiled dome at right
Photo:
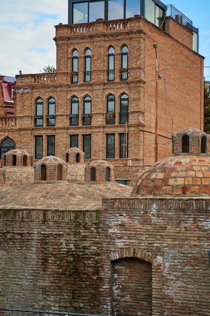
[(173, 155), (209, 154), (208, 135), (196, 128), (189, 128), (172, 136)]

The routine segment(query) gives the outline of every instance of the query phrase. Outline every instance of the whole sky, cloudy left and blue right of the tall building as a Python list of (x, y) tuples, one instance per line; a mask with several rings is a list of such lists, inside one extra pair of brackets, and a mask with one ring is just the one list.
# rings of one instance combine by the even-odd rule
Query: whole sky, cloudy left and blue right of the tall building
[[(210, 0), (169, 0), (199, 29), (199, 54), (210, 81)], [(68, 20), (67, 0), (0, 0), (0, 74), (15, 77), (56, 68), (54, 26)]]

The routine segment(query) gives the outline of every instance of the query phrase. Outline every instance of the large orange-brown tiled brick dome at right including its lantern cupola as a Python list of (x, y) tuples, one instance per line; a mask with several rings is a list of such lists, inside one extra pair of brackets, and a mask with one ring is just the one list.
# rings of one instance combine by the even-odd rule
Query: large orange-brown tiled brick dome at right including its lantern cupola
[(197, 129), (188, 129), (174, 134), (172, 142), (176, 155), (139, 173), (131, 196), (187, 197), (210, 194), (207, 135)]

